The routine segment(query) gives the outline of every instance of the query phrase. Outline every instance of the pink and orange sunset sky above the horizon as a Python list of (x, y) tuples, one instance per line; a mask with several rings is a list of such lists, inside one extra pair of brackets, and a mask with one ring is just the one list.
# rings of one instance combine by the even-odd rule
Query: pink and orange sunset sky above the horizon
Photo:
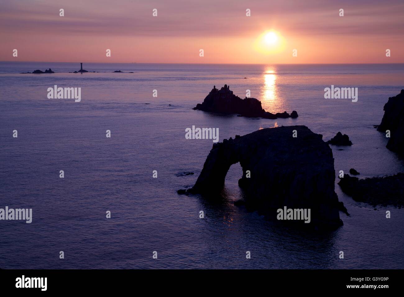
[(403, 0), (0, 0), (0, 61), (404, 63), (403, 36)]

